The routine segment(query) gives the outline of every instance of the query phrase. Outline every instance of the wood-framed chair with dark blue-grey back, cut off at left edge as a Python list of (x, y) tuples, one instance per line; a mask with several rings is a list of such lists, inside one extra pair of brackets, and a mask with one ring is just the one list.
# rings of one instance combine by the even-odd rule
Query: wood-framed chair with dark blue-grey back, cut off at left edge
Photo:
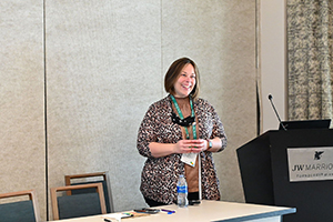
[[(21, 198), (24, 195), (26, 198), (29, 196), (29, 200)], [(1, 222), (40, 222), (38, 202), (33, 190), (2, 193), (0, 199), (7, 199), (6, 203), (0, 204)]]

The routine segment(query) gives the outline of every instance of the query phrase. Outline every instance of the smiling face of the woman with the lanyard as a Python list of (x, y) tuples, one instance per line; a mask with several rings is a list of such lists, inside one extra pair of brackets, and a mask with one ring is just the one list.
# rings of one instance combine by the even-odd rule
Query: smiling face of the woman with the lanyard
[(185, 64), (174, 83), (174, 97), (188, 97), (195, 85), (195, 73), (192, 64)]

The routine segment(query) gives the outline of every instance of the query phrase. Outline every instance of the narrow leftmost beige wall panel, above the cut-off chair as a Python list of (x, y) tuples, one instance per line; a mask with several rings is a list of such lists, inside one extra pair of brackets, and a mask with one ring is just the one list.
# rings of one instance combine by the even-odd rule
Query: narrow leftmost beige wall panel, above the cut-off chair
[(0, 2), (0, 193), (36, 190), (46, 219), (42, 16), (42, 1)]

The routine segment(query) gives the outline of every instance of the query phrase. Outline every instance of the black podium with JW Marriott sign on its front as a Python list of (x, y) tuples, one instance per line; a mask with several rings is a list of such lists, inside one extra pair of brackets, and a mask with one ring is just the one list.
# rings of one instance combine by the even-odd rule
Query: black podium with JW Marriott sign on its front
[[(313, 148), (333, 149), (333, 130), (268, 131), (240, 147), (236, 154), (246, 203), (296, 208), (296, 213), (283, 216), (284, 222), (332, 222), (333, 179), (291, 181), (289, 151)], [(331, 163), (333, 168), (333, 158), (326, 167), (305, 167), (331, 170)]]

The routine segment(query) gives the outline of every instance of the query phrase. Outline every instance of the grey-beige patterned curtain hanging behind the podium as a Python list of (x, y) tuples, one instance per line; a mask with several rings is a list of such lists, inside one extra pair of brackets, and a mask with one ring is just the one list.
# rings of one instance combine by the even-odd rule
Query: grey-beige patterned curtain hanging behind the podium
[(332, 119), (332, 2), (287, 0), (289, 120)]

